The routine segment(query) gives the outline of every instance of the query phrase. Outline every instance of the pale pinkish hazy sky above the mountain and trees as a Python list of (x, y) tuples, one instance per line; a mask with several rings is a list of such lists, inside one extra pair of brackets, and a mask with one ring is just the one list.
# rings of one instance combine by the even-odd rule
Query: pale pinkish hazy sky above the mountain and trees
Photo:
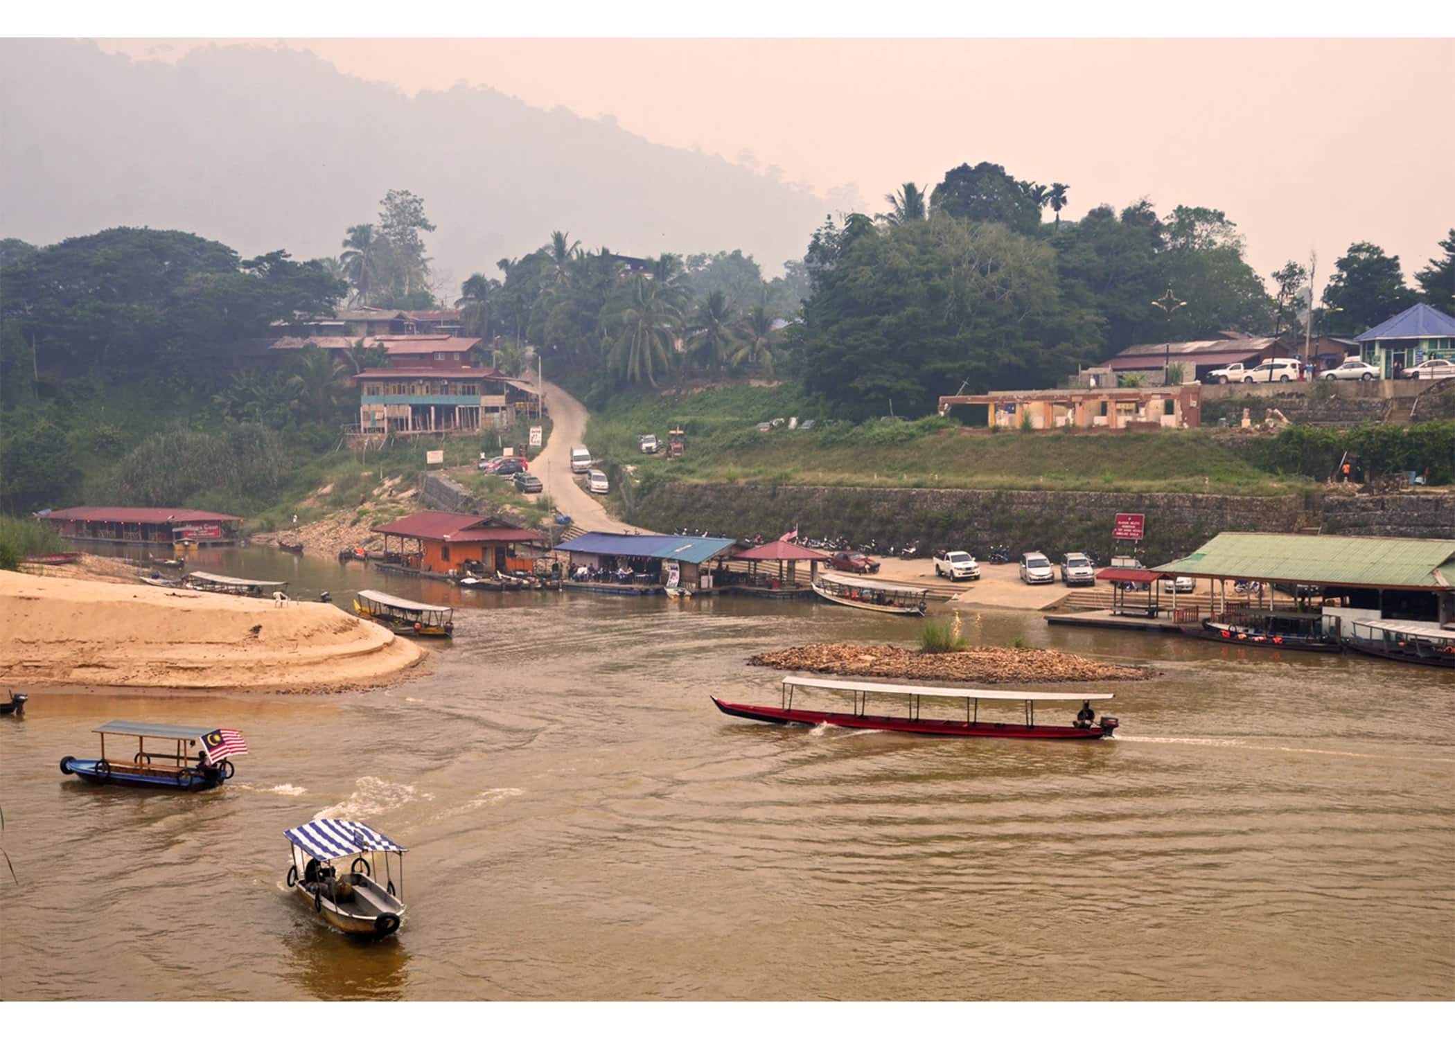
[[(962, 162), (1071, 186), (1069, 214), (1148, 196), (1224, 210), (1267, 276), (1350, 242), (1407, 279), (1455, 227), (1455, 42), (290, 39), (407, 93), (458, 81), (611, 114), (847, 208)], [(194, 41), (102, 41), (175, 58)], [(834, 189), (838, 189), (837, 192)], [(1049, 218), (1049, 211), (1048, 211)]]

